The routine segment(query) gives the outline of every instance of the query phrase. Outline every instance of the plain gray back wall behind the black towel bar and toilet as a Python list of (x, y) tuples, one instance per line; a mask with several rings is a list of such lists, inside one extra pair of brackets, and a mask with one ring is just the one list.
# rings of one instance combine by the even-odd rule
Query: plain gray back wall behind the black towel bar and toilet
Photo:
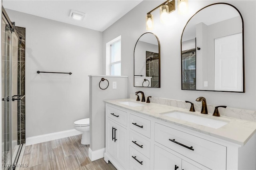
[(102, 74), (102, 32), (6, 11), (26, 28), (26, 137), (73, 129), (89, 117), (88, 75)]

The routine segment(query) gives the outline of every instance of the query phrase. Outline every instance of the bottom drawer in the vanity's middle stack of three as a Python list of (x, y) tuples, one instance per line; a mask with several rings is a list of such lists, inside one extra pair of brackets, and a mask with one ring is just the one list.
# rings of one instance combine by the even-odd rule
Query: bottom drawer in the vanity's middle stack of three
[(141, 170), (149, 170), (150, 159), (130, 146), (130, 162), (134, 163)]

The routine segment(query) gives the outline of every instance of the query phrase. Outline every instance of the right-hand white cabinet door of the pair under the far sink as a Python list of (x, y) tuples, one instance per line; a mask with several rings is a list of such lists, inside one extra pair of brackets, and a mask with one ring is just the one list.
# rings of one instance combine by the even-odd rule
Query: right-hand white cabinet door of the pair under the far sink
[(127, 165), (127, 130), (116, 125), (116, 160), (126, 169)]

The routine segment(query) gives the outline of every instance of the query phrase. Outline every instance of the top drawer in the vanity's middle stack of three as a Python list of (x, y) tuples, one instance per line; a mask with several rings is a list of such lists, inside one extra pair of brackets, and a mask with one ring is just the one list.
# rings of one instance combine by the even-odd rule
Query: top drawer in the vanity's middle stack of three
[(150, 120), (130, 114), (130, 129), (150, 138)]

